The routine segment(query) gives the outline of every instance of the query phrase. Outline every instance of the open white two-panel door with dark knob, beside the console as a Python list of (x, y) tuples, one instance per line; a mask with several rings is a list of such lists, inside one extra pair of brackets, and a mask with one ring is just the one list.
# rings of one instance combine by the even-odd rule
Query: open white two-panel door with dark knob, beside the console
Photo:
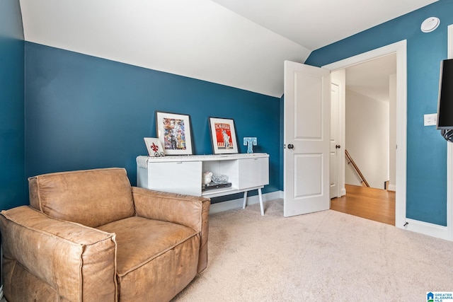
[(330, 208), (330, 71), (285, 61), (284, 216)]

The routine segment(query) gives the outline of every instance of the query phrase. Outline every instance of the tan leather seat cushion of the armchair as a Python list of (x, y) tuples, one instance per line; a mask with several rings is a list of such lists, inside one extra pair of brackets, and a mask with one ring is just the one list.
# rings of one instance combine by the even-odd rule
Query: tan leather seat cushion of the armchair
[(115, 233), (120, 301), (168, 301), (197, 275), (200, 234), (177, 223), (130, 217), (100, 226)]

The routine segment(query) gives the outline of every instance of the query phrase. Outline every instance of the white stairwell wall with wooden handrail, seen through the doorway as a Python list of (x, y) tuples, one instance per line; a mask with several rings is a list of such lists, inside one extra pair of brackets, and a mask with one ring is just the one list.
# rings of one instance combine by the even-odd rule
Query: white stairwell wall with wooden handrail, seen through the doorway
[[(389, 180), (389, 102), (346, 89), (346, 149), (370, 187), (384, 189)], [(360, 185), (351, 165), (345, 183)]]

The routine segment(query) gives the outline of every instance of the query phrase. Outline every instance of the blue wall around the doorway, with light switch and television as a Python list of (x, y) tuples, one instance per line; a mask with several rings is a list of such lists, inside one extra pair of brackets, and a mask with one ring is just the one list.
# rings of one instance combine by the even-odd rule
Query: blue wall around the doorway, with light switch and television
[[(447, 225), (447, 142), (423, 115), (437, 112), (440, 61), (447, 59), (447, 26), (453, 0), (440, 0), (362, 33), (311, 52), (306, 64), (323, 66), (407, 40), (407, 194), (409, 219)], [(432, 33), (422, 33), (428, 17), (440, 18)]]

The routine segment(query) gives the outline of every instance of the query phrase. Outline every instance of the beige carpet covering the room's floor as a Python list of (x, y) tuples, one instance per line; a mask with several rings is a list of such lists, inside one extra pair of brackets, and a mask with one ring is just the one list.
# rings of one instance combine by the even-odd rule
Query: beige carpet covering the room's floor
[(210, 216), (208, 267), (173, 301), (426, 301), (453, 291), (453, 242), (283, 201)]

